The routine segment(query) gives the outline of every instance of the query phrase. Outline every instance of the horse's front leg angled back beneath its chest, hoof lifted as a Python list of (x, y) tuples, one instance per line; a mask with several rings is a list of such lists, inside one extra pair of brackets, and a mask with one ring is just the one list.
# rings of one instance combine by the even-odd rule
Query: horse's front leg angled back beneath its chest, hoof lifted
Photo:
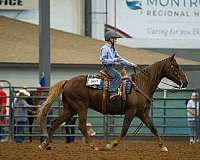
[(107, 150), (111, 150), (112, 148), (116, 147), (119, 144), (119, 142), (126, 136), (126, 133), (135, 116), (135, 113), (136, 113), (135, 109), (130, 109), (126, 111), (120, 137), (114, 141), (111, 141), (110, 144), (107, 144), (106, 145)]

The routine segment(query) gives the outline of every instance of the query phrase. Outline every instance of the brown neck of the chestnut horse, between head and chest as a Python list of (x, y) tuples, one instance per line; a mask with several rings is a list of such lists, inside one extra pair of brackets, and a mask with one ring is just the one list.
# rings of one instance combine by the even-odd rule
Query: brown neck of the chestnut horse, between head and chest
[(138, 87), (140, 87), (150, 97), (153, 96), (158, 84), (163, 78), (164, 61), (157, 62), (145, 69), (137, 78)]

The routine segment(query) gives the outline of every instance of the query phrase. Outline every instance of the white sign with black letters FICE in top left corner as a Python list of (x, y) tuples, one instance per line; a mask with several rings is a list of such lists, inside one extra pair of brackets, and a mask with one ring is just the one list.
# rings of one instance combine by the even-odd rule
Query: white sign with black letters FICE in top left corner
[(39, 0), (0, 0), (1, 10), (37, 9)]

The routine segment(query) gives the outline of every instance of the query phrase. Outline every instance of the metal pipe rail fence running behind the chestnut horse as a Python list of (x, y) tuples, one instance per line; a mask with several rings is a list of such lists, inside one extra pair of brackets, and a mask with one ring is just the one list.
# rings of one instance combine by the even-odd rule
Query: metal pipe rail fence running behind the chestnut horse
[[(14, 141), (15, 137), (31, 137), (33, 139), (39, 139), (42, 134), (39, 129), (39, 125), (36, 121), (35, 115), (26, 115), (21, 116), (15, 113), (16, 111), (16, 93), (19, 89), (23, 87), (12, 87), (11, 84), (7, 81), (2, 81), (6, 85), (4, 89), (7, 91), (7, 115), (0, 115), (1, 120), (7, 119), (7, 124), (0, 124), (1, 130), (3, 129), (5, 132), (1, 132), (0, 136), (9, 137), (11, 141)], [(28, 91), (38, 91), (35, 87), (27, 88)], [(154, 102), (151, 106), (151, 117), (154, 121), (156, 128), (161, 136), (168, 137), (198, 137), (199, 132), (199, 117), (195, 117), (195, 125), (188, 125), (188, 117), (187, 117), (187, 108), (185, 102), (187, 99), (190, 99), (192, 92), (198, 92), (197, 89), (191, 90), (157, 90), (154, 94)], [(30, 96), (29, 98), (41, 99), (44, 96)], [(198, 112), (198, 107), (195, 107), (195, 112)], [(52, 114), (48, 115), (49, 121), (52, 121), (62, 113), (62, 101), (58, 98), (52, 106)], [(16, 124), (15, 119), (17, 117), (26, 117), (26, 118), (35, 118), (33, 124)], [(92, 110), (88, 110), (88, 121), (92, 123), (93, 129), (96, 131), (96, 136), (104, 138), (105, 140), (112, 139), (115, 136), (119, 136), (123, 115), (102, 115)], [(153, 136), (149, 129), (147, 129), (144, 125), (139, 131), (137, 135), (134, 135), (134, 130), (139, 126), (140, 120), (135, 118), (129, 128), (127, 133), (127, 137), (146, 137)], [(50, 123), (48, 124), (48, 126)], [(75, 127), (75, 136), (81, 137), (82, 134), (78, 130), (78, 122), (75, 125), (66, 125), (62, 124), (54, 134), (54, 137), (63, 138), (66, 136), (74, 136), (67, 135), (65, 132), (65, 127), (74, 126)], [(17, 133), (17, 127), (25, 127), (24, 133)], [(32, 127), (32, 133), (29, 133), (30, 127)], [(191, 133), (190, 129), (194, 128), (195, 133)]]

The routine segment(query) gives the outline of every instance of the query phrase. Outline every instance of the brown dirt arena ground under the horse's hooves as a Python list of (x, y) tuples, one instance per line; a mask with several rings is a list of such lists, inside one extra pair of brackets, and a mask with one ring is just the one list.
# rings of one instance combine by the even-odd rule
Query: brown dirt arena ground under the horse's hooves
[[(103, 145), (96, 142), (98, 146)], [(66, 144), (54, 141), (51, 150), (41, 151), (39, 142), (0, 143), (0, 160), (200, 160), (200, 144), (165, 141), (169, 152), (160, 152), (155, 141), (122, 141), (112, 151), (93, 151), (77, 141)]]

